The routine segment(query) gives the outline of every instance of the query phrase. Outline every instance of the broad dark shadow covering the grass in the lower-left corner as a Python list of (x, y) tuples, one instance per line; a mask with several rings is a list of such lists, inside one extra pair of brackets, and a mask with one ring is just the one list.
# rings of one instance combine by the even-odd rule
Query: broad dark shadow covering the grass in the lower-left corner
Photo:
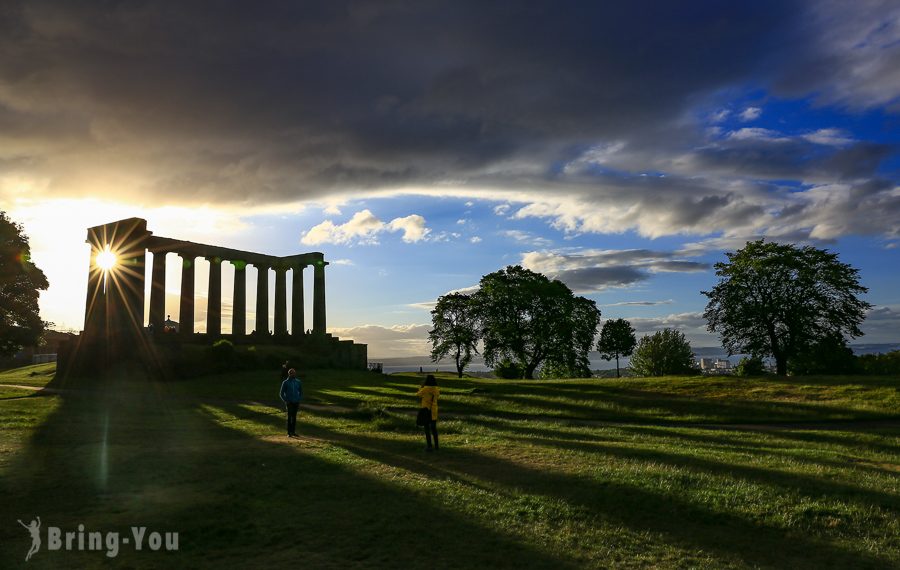
[[(279, 417), (261, 417), (280, 432)], [(61, 397), (2, 480), (13, 525), (0, 528), (0, 566), (15, 567), (28, 550), (15, 520), (40, 516), (64, 531), (180, 531), (177, 553), (123, 546), (117, 564), (140, 568), (575, 567), (330, 449), (252, 437), (152, 390)], [(29, 567), (106, 562), (102, 552), (44, 550)]]

